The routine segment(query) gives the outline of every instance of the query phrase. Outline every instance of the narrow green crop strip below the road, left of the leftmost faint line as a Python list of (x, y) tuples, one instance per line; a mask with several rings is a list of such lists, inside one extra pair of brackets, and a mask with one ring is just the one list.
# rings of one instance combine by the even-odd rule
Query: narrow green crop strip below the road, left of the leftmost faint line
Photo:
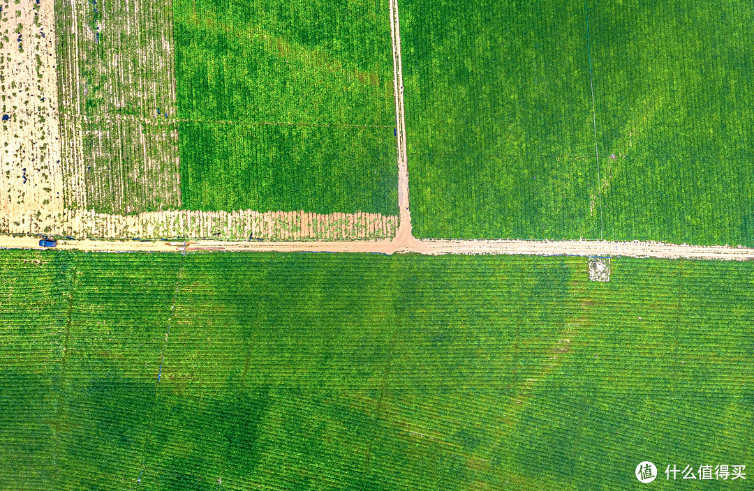
[(53, 489), (72, 257), (0, 255), (0, 488)]

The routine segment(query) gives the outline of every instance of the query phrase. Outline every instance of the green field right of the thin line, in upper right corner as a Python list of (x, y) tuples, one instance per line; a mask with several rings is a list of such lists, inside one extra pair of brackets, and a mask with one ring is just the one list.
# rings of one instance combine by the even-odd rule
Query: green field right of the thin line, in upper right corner
[(754, 5), (588, 11), (605, 238), (754, 246)]

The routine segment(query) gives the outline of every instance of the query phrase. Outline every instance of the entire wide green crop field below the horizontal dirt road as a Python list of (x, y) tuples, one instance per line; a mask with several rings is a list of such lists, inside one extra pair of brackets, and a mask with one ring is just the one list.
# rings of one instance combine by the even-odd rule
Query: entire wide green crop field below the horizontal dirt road
[(752, 268), (4, 252), (0, 487), (634, 489), (645, 459), (750, 465)]

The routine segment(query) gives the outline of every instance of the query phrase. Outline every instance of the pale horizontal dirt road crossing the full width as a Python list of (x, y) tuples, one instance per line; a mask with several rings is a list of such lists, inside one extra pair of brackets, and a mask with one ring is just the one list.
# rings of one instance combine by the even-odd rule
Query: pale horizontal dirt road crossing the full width
[[(0, 236), (0, 249), (41, 249), (38, 237)], [(342, 242), (225, 242), (138, 240), (59, 240), (56, 249), (85, 252), (357, 252), (423, 255), (573, 255), (630, 258), (687, 258), (729, 261), (754, 259), (754, 249), (728, 246), (688, 246), (663, 242), (604, 242), (597, 240), (395, 240)]]

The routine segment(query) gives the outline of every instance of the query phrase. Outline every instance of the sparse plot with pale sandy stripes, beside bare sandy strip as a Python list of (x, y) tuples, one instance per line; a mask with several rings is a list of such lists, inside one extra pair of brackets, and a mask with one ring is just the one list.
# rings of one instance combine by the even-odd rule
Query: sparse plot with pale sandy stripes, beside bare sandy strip
[(66, 208), (181, 206), (170, 2), (56, 2)]

